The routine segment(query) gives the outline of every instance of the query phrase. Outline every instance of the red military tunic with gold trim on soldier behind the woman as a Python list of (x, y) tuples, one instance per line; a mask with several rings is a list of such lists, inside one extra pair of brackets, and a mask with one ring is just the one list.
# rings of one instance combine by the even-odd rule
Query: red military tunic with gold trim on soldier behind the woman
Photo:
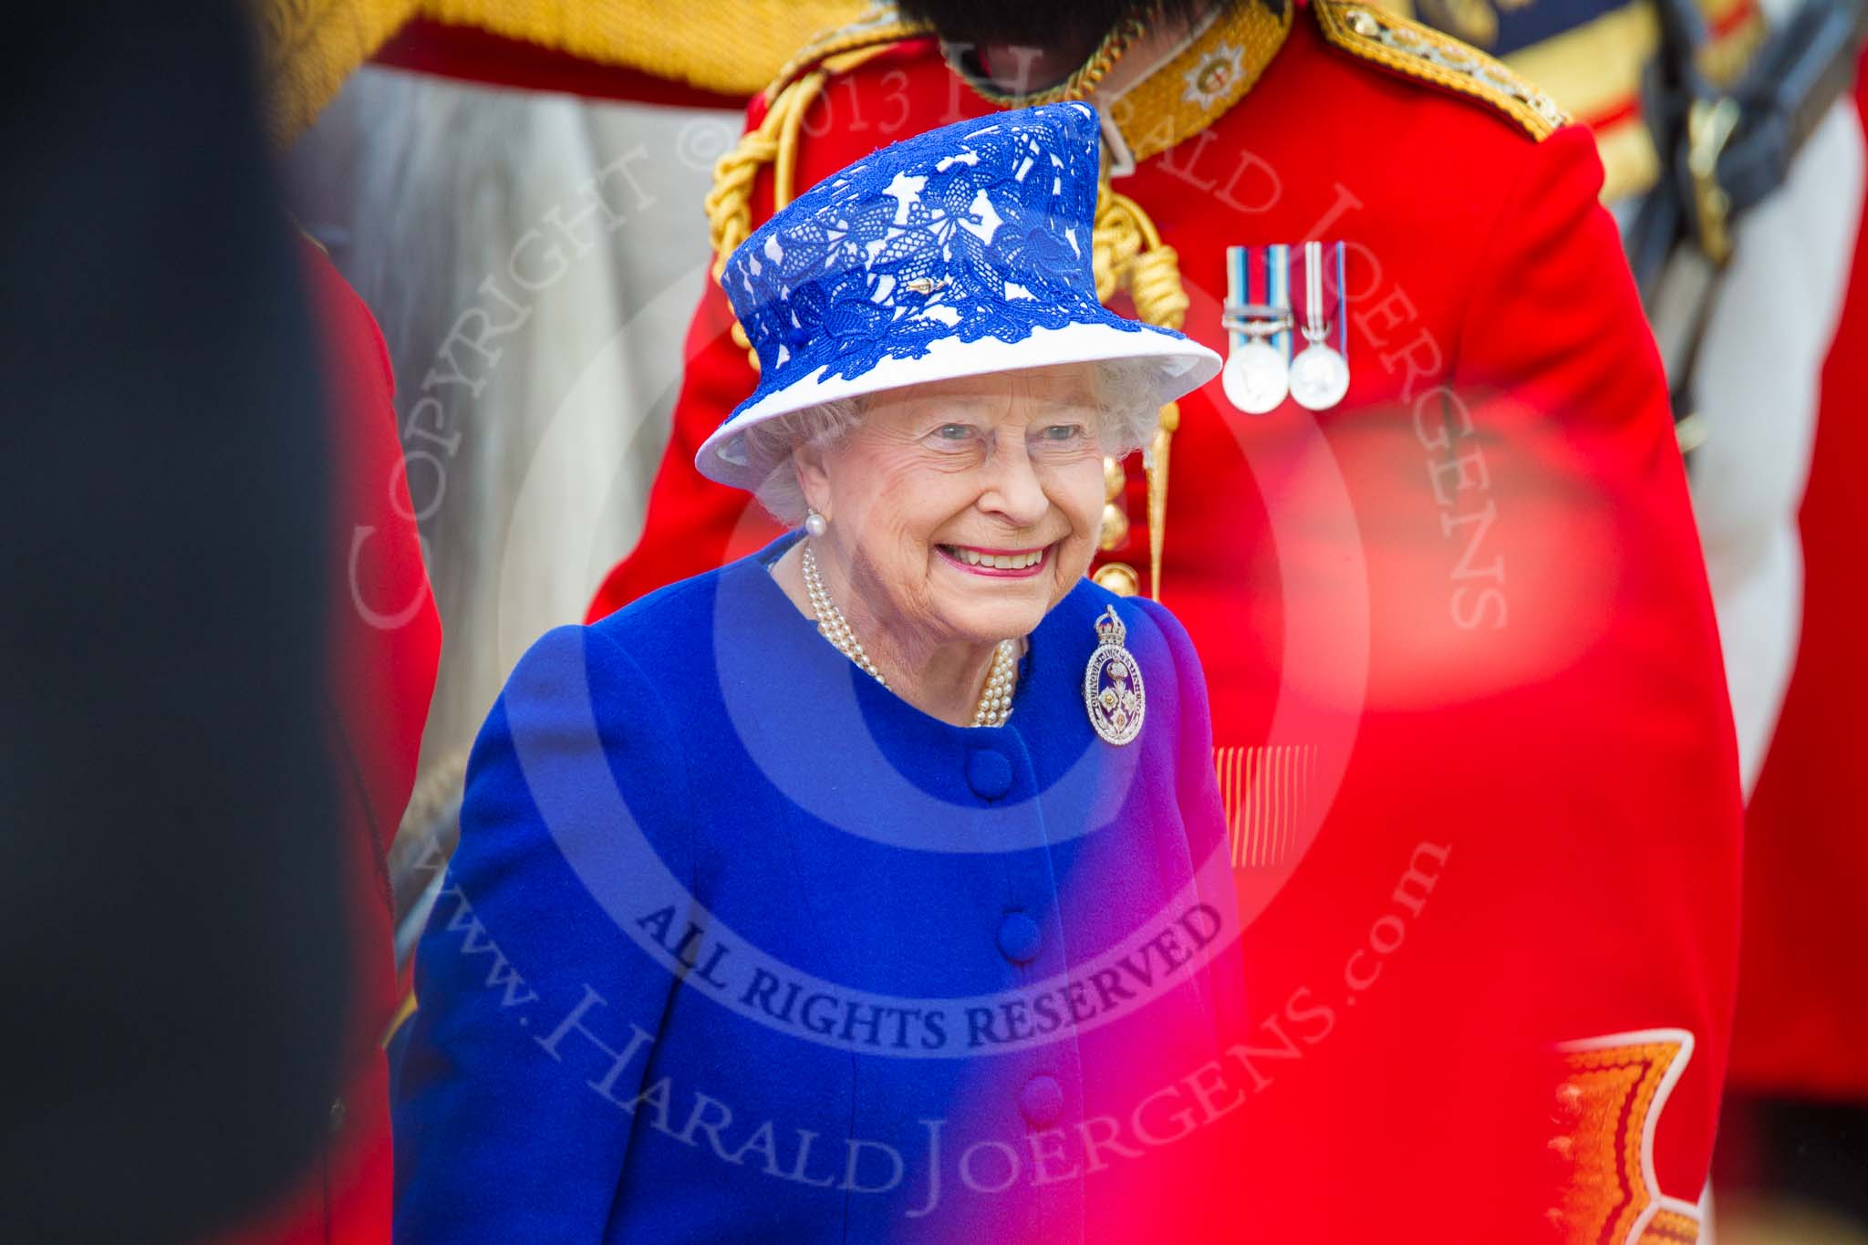
[[(994, 106), (882, 22), (786, 80), (813, 65), (753, 103), (723, 162), (729, 243), (736, 187), (757, 224), (779, 175), (803, 189)], [(1196, 340), (1225, 351), (1227, 246), (1347, 243), (1347, 399), (1250, 416), (1218, 383), (1192, 394), (1164, 530), (1132, 463), (1108, 556), (1147, 588), (1162, 538), (1158, 595), (1212, 692), (1252, 918), (1240, 1239), (1698, 1239), (1739, 786), (1588, 131), (1481, 54), (1337, 0), (1238, 6), (1098, 103), (1136, 161), (1113, 190), (1145, 254), (1149, 228), (1177, 252)], [(1160, 306), (1154, 256), (1126, 287)], [(755, 383), (730, 329), (710, 287), (643, 539), (594, 616), (771, 534), (693, 470)], [(1580, 1043), (1562, 1071), (1541, 1056), (1558, 1043)]]

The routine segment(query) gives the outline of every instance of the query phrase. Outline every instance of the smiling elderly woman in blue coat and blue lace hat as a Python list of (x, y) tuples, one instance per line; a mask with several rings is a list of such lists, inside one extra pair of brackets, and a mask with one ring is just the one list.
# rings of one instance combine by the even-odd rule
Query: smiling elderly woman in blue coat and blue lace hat
[(934, 131), (727, 263), (760, 383), (697, 461), (801, 532), (508, 679), (394, 1068), (398, 1241), (1224, 1208), (1199, 663), (1083, 579), (1104, 455), (1218, 358), (1097, 302), (1097, 153), (1083, 105)]

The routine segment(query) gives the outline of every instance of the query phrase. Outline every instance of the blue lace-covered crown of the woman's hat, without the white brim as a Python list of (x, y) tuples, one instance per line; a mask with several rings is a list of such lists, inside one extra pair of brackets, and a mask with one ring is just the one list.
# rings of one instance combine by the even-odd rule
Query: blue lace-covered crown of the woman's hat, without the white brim
[(1141, 332), (1097, 301), (1098, 153), (1089, 105), (1046, 105), (908, 138), (796, 198), (721, 274), (760, 392), (818, 368), (856, 379), (941, 338)]

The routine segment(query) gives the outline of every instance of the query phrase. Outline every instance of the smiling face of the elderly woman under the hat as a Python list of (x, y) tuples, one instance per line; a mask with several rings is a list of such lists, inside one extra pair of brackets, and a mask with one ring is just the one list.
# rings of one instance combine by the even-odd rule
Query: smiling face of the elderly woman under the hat
[(1029, 635), (1102, 521), (1093, 375), (1037, 368), (867, 399), (839, 446), (800, 450), (863, 612), (925, 644)]

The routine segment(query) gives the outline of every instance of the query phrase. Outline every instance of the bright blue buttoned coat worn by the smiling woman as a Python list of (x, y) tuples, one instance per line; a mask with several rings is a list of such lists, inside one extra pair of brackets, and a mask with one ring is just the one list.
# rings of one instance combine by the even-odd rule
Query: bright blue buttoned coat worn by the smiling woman
[[(506, 683), (417, 954), (398, 1241), (1121, 1239), (1203, 1196), (1240, 984), (1186, 633), (1085, 581), (1009, 724), (956, 728), (792, 607), (790, 539)], [(1126, 747), (1083, 706), (1111, 603)]]

